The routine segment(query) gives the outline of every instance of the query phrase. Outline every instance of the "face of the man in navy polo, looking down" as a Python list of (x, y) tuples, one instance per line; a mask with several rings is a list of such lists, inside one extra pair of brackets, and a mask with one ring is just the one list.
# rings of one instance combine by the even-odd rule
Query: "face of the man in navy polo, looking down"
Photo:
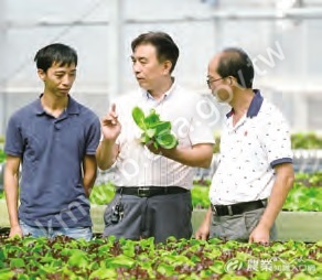
[(39, 76), (44, 82), (46, 91), (57, 97), (66, 96), (75, 82), (76, 66), (74, 63), (71, 65), (53, 63), (46, 72), (39, 69)]

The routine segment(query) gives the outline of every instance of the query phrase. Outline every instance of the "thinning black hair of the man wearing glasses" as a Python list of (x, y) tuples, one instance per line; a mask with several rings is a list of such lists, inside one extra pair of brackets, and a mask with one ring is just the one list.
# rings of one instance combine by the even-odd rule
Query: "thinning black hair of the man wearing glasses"
[(222, 77), (233, 76), (240, 86), (251, 88), (254, 65), (248, 54), (239, 47), (226, 47), (222, 53), (217, 69), (218, 74)]

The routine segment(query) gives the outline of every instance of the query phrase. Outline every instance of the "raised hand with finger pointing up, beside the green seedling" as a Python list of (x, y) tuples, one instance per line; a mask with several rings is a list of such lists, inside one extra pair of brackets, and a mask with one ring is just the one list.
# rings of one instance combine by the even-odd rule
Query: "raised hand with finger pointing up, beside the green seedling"
[(109, 112), (100, 120), (100, 126), (104, 139), (114, 141), (117, 139), (121, 131), (121, 125), (118, 121), (115, 104), (111, 105)]

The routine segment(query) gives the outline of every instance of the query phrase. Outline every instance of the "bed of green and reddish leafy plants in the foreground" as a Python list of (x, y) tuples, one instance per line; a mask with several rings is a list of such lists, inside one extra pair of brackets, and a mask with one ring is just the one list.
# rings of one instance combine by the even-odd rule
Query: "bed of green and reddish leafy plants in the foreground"
[(321, 262), (321, 241), (0, 237), (0, 279), (310, 280), (322, 274)]

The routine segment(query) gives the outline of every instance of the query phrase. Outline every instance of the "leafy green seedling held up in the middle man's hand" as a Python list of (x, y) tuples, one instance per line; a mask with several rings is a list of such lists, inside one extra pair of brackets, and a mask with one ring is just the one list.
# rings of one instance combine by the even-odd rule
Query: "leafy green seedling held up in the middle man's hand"
[(142, 109), (135, 107), (132, 117), (137, 126), (143, 131), (142, 143), (153, 143), (154, 148), (173, 149), (178, 146), (175, 136), (171, 132), (171, 122), (160, 120), (160, 115), (154, 109), (146, 117)]

